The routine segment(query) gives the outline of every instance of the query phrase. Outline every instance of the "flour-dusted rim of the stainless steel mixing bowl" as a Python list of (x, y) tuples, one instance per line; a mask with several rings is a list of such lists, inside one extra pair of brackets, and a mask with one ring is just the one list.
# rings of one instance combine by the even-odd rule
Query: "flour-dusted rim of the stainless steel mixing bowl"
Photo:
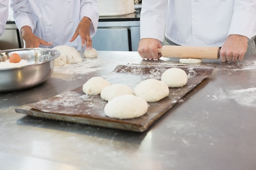
[(58, 50), (56, 50), (56, 49), (41, 48), (41, 47), (38, 47), (38, 48), (22, 48), (22, 49), (0, 50), (0, 53), (3, 53), (3, 52), (10, 52), (10, 51), (29, 51), (29, 50), (49, 50), (49, 51), (54, 51), (54, 52), (56, 52), (57, 55), (54, 56), (54, 57), (52, 57), (52, 58), (49, 59), (49, 60), (45, 60), (45, 61), (42, 61), (42, 62), (36, 62), (36, 63), (32, 63), (32, 64), (27, 64), (27, 65), (25, 65), (25, 66), (17, 66), (17, 67), (9, 67), (9, 68), (0, 68), (0, 71), (1, 71), (1, 70), (16, 70), (16, 69), (24, 68), (24, 67), (31, 66), (31, 65), (42, 64), (42, 63), (45, 63), (45, 62), (52, 61), (52, 60), (54, 60), (55, 58), (57, 58), (59, 55), (61, 55), (60, 51), (58, 51)]

